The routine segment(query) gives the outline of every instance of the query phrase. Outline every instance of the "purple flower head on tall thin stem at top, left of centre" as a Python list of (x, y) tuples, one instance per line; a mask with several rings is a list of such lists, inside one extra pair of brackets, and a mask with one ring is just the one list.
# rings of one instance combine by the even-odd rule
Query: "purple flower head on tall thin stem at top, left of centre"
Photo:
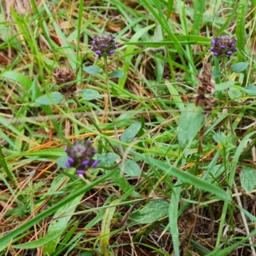
[(97, 55), (104, 56), (104, 55), (111, 55), (117, 48), (117, 45), (115, 45), (115, 36), (113, 35), (95, 35), (93, 36), (92, 41), (93, 47), (91, 47), (91, 50), (95, 52)]

